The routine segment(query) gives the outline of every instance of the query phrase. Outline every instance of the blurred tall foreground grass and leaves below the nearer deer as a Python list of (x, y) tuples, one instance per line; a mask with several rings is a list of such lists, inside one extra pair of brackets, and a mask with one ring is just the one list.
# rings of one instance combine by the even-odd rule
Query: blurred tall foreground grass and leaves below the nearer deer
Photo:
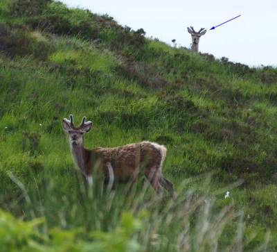
[(153, 194), (143, 180), (109, 192), (99, 180), (84, 184), (76, 173), (71, 192), (51, 178), (27, 191), (14, 174), (8, 176), (20, 192), (15, 208), (23, 201), (24, 219), (33, 221), (11, 221), (1, 212), (0, 230), (10, 227), (0, 235), (4, 251), (265, 251), (269, 241), (267, 234), (259, 246), (251, 244), (243, 212), (215, 206), (234, 185), (213, 192), (211, 176), (184, 180), (174, 199)]

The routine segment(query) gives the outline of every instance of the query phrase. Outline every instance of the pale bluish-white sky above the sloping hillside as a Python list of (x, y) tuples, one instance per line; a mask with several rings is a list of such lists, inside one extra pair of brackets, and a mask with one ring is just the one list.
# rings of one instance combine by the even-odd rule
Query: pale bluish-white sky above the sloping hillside
[[(204, 27), (199, 51), (222, 56), (251, 66), (277, 67), (277, 0), (62, 0), (71, 7), (88, 8), (98, 14), (107, 13), (134, 30), (143, 28), (147, 37), (157, 37), (172, 45), (190, 47), (186, 30)], [(233, 17), (231, 22), (217, 26)]]

